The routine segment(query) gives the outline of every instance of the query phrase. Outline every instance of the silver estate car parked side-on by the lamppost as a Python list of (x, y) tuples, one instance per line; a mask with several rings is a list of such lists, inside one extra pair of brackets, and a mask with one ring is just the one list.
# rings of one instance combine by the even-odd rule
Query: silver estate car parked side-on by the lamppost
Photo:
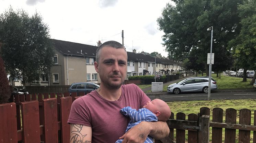
[[(167, 87), (167, 92), (179, 94), (181, 92), (202, 91), (208, 93), (209, 77), (190, 77), (183, 81), (171, 84)], [(216, 81), (211, 78), (211, 90), (217, 89)]]

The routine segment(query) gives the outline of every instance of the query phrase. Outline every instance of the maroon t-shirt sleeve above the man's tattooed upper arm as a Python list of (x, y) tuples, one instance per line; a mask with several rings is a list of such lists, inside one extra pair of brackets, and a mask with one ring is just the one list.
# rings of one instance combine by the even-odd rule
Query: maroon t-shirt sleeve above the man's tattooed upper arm
[(90, 114), (82, 98), (78, 98), (72, 103), (68, 123), (92, 127)]

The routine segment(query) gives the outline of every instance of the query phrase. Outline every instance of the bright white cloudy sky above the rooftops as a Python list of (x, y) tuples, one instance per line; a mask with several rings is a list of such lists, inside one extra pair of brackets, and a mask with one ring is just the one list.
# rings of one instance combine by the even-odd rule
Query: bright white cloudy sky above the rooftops
[(36, 11), (48, 25), (52, 39), (88, 45), (115, 40), (126, 51), (158, 52), (167, 57), (162, 43), (163, 31), (157, 18), (170, 0), (0, 0), (0, 13), (23, 9)]

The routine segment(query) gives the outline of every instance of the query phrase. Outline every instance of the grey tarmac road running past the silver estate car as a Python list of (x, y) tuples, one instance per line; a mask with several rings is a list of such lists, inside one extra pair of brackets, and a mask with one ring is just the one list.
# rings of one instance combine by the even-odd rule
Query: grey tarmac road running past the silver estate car
[[(148, 94), (149, 98), (159, 98), (164, 101), (193, 101), (193, 100), (207, 100), (208, 94), (202, 92), (185, 92), (178, 95), (168, 94), (167, 92), (158, 92)], [(256, 90), (252, 89), (249, 91), (221, 91), (212, 90), (211, 99), (256, 99)]]

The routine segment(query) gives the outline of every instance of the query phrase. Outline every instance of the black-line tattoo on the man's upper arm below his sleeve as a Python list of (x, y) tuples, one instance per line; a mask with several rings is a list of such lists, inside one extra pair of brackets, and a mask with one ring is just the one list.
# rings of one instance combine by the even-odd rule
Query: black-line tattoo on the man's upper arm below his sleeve
[[(83, 138), (87, 135), (87, 134), (81, 134), (80, 131), (82, 130), (83, 125), (76, 125), (76, 124), (72, 124), (71, 125), (71, 134), (70, 134), (70, 142), (71, 143), (91, 143), (91, 141), (85, 141)], [(75, 129), (75, 130), (72, 130)]]

